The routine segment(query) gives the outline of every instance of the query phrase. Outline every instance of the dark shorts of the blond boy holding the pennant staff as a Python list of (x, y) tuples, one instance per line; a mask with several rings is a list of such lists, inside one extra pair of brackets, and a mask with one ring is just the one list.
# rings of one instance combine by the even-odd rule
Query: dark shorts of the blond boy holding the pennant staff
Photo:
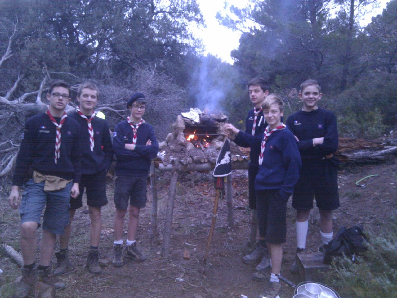
[(287, 239), (287, 199), (283, 199), (278, 190), (256, 191), (256, 212), (258, 229), (265, 235), (266, 242), (285, 243)]

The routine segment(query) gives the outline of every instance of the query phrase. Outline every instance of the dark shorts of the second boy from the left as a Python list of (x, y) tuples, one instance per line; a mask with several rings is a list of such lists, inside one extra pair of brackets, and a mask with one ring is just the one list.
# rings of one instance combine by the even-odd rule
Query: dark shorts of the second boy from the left
[(108, 203), (106, 197), (106, 170), (94, 175), (82, 175), (79, 184), (80, 194), (77, 198), (70, 198), (70, 209), (78, 209), (83, 206), (83, 193), (87, 195), (87, 205), (91, 207), (103, 207)]

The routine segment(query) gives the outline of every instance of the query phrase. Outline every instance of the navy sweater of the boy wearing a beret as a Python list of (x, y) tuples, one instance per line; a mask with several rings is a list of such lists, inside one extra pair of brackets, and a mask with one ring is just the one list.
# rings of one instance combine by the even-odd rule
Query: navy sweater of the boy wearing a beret
[[(113, 150), (116, 153), (116, 175), (147, 176), (150, 169), (150, 159), (156, 157), (158, 143), (153, 127), (143, 123), (138, 128), (137, 143), (134, 150), (125, 149), (125, 144), (132, 144), (133, 130), (127, 120), (116, 125), (113, 134)], [(146, 146), (146, 141), (152, 145)]]

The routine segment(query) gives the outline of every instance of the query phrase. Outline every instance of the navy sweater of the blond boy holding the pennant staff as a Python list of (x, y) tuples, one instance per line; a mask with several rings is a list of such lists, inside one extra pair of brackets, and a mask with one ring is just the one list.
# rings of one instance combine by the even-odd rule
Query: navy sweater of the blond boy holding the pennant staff
[[(240, 131), (237, 137), (260, 146), (263, 135), (252, 136)], [(255, 178), (255, 190), (278, 190), (281, 197), (287, 199), (298, 181), (301, 167), (295, 137), (287, 128), (277, 130), (266, 141), (263, 161)]]

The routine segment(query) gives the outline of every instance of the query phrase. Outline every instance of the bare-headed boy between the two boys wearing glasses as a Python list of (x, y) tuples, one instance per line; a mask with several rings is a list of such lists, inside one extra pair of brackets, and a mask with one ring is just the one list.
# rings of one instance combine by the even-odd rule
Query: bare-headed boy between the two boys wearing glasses
[(98, 103), (99, 89), (90, 82), (81, 83), (77, 90), (79, 106), (76, 112), (69, 115), (75, 119), (81, 129), (81, 145), (83, 158), (82, 176), (79, 186), (80, 195), (70, 201), (70, 221), (65, 234), (59, 237), (60, 251), (56, 252), (57, 268), (54, 274), (64, 274), (70, 265), (67, 253), (71, 222), (76, 209), (83, 206), (83, 193), (86, 190), (87, 205), (91, 221), (90, 250), (87, 257), (87, 269), (90, 273), (99, 274), (102, 270), (98, 264), (98, 245), (102, 227), (101, 207), (108, 203), (106, 198), (106, 172), (112, 163), (113, 151), (109, 125), (104, 119), (96, 117), (94, 108)]

